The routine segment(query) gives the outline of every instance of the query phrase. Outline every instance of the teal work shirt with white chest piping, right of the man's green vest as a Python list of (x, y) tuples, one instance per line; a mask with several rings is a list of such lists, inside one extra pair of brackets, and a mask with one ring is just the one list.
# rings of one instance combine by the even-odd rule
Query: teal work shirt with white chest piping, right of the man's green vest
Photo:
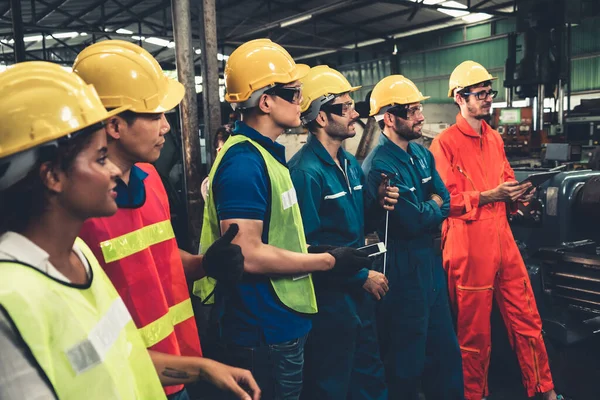
[[(365, 245), (364, 174), (356, 158), (344, 149), (339, 149), (337, 158), (341, 167), (309, 134), (307, 143), (289, 162), (306, 241), (311, 245), (361, 247)], [(368, 274), (363, 268), (354, 276), (344, 280), (337, 277), (335, 281), (362, 290)], [(315, 286), (331, 287), (334, 282), (327, 277), (328, 274), (315, 274)]]

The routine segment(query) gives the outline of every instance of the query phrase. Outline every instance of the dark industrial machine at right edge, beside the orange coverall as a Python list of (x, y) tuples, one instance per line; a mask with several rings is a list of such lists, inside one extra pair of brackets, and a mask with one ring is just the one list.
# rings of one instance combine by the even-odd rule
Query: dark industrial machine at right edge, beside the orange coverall
[(556, 175), (509, 219), (546, 337), (570, 345), (600, 332), (600, 172)]

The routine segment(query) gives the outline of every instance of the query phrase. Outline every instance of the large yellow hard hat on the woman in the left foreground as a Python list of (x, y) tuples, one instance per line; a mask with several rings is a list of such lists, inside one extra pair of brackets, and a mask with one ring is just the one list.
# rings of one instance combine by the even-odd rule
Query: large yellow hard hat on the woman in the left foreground
[(33, 149), (102, 122), (107, 112), (93, 85), (44, 61), (0, 73), (0, 158)]

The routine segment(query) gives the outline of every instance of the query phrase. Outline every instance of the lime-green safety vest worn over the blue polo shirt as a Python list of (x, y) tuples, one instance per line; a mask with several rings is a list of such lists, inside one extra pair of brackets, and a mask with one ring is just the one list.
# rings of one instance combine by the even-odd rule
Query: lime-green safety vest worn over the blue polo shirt
[[(242, 142), (249, 142), (256, 147), (267, 166), (267, 173), (271, 182), (271, 218), (268, 243), (280, 249), (306, 253), (307, 247), (302, 216), (300, 215), (300, 207), (298, 207), (296, 191), (290, 178), (290, 172), (260, 144), (244, 135), (231, 136), (227, 140), (210, 170), (210, 184), (204, 206), (204, 221), (200, 237), (201, 252), (208, 249), (221, 236), (217, 209), (212, 194), (212, 182), (215, 173), (225, 153), (232, 146)], [(200, 297), (205, 304), (214, 303), (212, 294), (215, 285), (215, 279), (204, 277), (194, 282), (193, 293)], [(315, 314), (317, 312), (317, 300), (311, 274), (271, 278), (271, 285), (279, 300), (292, 310), (304, 314)]]

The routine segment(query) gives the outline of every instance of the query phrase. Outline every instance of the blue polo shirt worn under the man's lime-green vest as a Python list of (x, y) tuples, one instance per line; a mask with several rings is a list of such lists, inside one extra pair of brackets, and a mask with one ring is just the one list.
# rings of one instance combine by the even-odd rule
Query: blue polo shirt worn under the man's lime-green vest
[[(233, 135), (244, 135), (264, 147), (287, 167), (285, 147), (236, 122)], [(263, 243), (268, 243), (271, 185), (267, 166), (250, 143), (239, 143), (223, 156), (212, 182), (219, 221), (263, 221)], [(299, 338), (310, 331), (307, 316), (286, 308), (274, 294), (267, 276), (246, 274), (229, 293), (221, 320), (222, 337), (239, 346), (275, 344)]]

